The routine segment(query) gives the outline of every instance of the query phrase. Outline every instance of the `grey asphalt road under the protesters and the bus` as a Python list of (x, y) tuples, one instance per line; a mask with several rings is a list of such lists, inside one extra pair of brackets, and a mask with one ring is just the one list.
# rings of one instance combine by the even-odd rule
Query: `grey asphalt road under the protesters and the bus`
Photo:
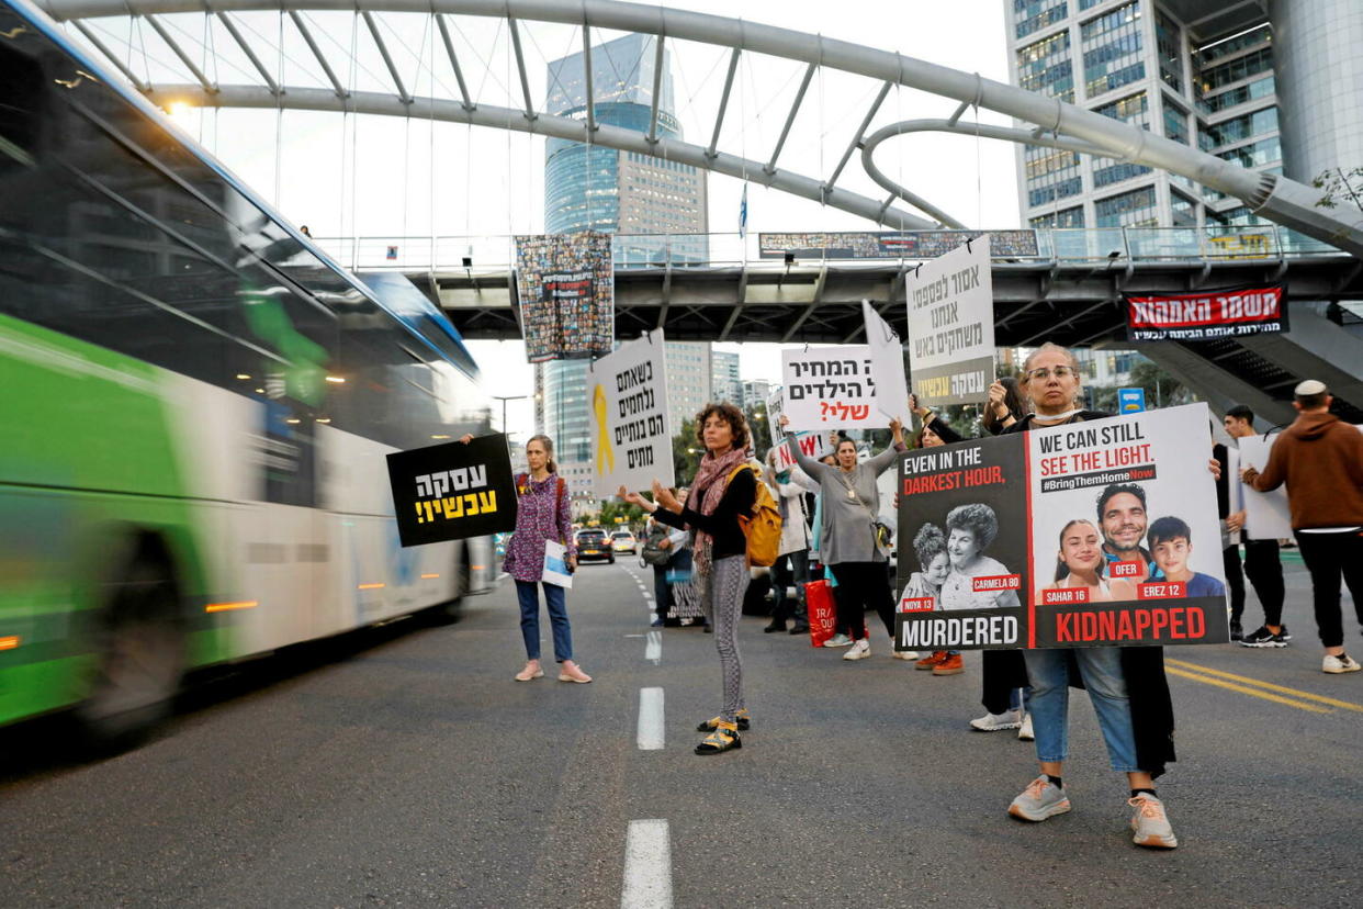
[[(1168, 653), (1183, 673), (1180, 760), (1160, 785), (1174, 852), (1131, 845), (1082, 694), (1074, 811), (1006, 816), (1036, 765), (1013, 733), (966, 726), (977, 657), (932, 677), (890, 660), (883, 632), (844, 662), (744, 619), (752, 729), (741, 751), (692, 755), (720, 706), (713, 636), (668, 628), (652, 651), (639, 582), (652, 591), (637, 563), (578, 574), (590, 685), (511, 680), (523, 651), (503, 582), (455, 626), (399, 623), (202, 685), (114, 758), (64, 759), (48, 722), (4, 730), (0, 905), (617, 906), (650, 882), (676, 906), (1363, 899), (1363, 673), (1319, 672), (1299, 568), (1291, 647)], [(1351, 609), (1345, 627), (1363, 653)], [(638, 747), (641, 688), (664, 692), (661, 750)], [(627, 884), (646, 819), (667, 822), (669, 854), (638, 841)]]

